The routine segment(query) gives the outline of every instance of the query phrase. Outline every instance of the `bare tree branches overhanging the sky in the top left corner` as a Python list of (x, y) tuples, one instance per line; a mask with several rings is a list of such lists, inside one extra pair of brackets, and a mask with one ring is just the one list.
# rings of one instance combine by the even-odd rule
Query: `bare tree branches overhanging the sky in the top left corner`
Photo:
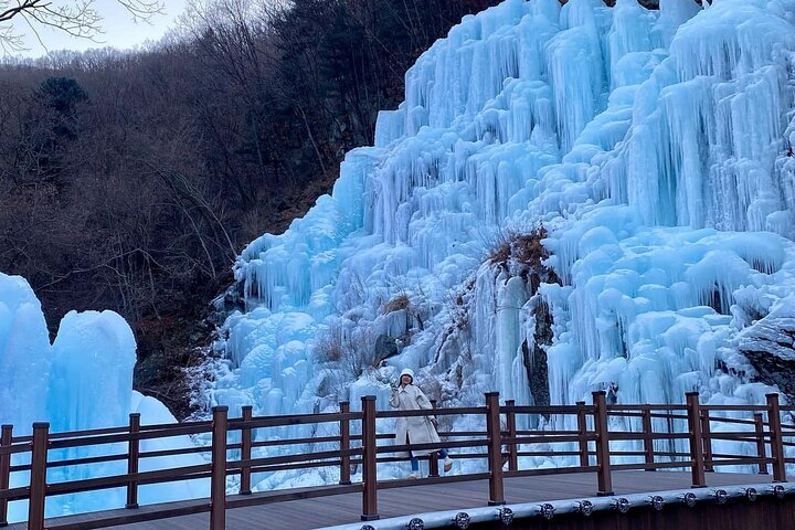
[[(116, 0), (136, 22), (147, 22), (162, 13), (165, 0)], [(54, 28), (72, 36), (95, 40), (103, 33), (102, 15), (95, 0), (0, 0), (0, 47), (4, 52), (24, 50), (26, 26), (39, 39), (39, 29)], [(14, 26), (14, 22), (20, 21)], [(39, 39), (41, 42), (41, 39)], [(42, 44), (43, 45), (43, 44)]]

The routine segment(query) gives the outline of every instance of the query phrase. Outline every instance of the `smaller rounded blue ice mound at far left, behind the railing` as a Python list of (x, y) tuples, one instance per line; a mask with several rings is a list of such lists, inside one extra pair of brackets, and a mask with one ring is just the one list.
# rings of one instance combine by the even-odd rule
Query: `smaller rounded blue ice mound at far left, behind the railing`
[[(123, 426), (129, 413), (139, 412), (142, 424), (176, 423), (165, 405), (132, 391), (136, 343), (125, 320), (113, 311), (71, 311), (51, 344), (41, 304), (28, 282), (0, 273), (0, 423), (14, 426), (17, 436), (30, 434), (34, 422), (50, 422), (51, 432)], [(141, 451), (192, 447), (187, 437), (144, 441)], [(126, 452), (126, 444), (50, 452), (50, 460), (83, 458)], [(14, 456), (14, 465), (24, 464)], [(202, 464), (199, 455), (146, 458), (141, 470)], [(47, 480), (78, 480), (126, 473), (126, 464), (53, 468)], [(11, 487), (26, 486), (26, 473), (11, 475)], [(145, 486), (140, 501), (162, 502), (206, 496), (208, 480)], [(123, 489), (103, 495), (77, 494), (47, 499), (47, 517), (119, 508)], [(11, 522), (26, 518), (26, 505), (11, 502)]]

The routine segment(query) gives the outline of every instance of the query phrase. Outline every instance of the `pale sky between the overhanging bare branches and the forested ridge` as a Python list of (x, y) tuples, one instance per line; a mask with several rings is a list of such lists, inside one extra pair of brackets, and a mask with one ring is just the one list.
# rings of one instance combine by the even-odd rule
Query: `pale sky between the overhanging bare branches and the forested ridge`
[[(76, 39), (66, 33), (50, 29), (36, 28), (39, 36), (51, 52), (56, 50), (75, 50), (84, 51), (91, 47), (113, 46), (119, 50), (134, 47), (144, 43), (146, 40), (158, 41), (166, 31), (174, 25), (176, 20), (184, 11), (188, 0), (165, 0), (166, 13), (155, 15), (150, 23), (135, 23), (130, 13), (114, 0), (96, 0), (94, 7), (103, 15), (104, 34), (97, 36), (97, 41), (92, 42), (86, 39)], [(21, 52), (21, 55), (28, 57), (39, 57), (46, 53), (46, 50), (39, 44), (33, 32), (21, 18), (12, 19), (14, 29), (19, 33), (24, 33), (25, 47), (30, 50)], [(0, 54), (2, 52), (0, 51)]]

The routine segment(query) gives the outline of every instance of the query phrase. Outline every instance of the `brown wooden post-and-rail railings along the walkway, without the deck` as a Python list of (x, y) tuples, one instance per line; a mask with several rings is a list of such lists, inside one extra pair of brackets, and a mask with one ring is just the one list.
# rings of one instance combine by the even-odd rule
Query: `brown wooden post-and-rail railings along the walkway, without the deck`
[[(213, 409), (212, 421), (167, 425), (140, 425), (140, 416), (130, 414), (129, 425), (71, 433), (50, 433), (49, 424), (33, 424), (31, 436), (13, 436), (12, 427), (2, 426), (0, 436), (0, 526), (8, 524), (10, 501), (29, 500), (28, 528), (44, 529), (44, 513), (47, 497), (113, 488), (126, 488), (125, 515), (115, 513), (107, 519), (98, 517), (91, 523), (82, 521), (74, 528), (102, 528), (144, 520), (163, 519), (189, 513), (210, 512), (212, 530), (225, 528), (225, 512), (229, 508), (273, 502), (290, 497), (252, 494), (252, 475), (287, 469), (339, 467), (339, 484), (301, 491), (300, 497), (319, 497), (343, 492), (361, 492), (362, 520), (379, 518), (379, 490), (443, 481), (478, 480), (489, 481), (489, 505), (505, 504), (506, 477), (524, 477), (548, 474), (594, 473), (597, 495), (613, 495), (612, 474), (616, 470), (689, 468), (692, 487), (706, 487), (706, 474), (722, 466), (753, 466), (760, 474), (772, 469), (775, 481), (786, 481), (785, 464), (795, 458), (785, 458), (784, 447), (795, 447), (795, 425), (792, 425), (795, 407), (781, 407), (777, 394), (768, 394), (765, 405), (701, 405), (698, 393), (687, 394), (683, 405), (607, 405), (604, 392), (593, 393), (593, 404), (579, 402), (575, 405), (517, 406), (512, 401), (500, 406), (497, 393), (486, 394), (485, 406), (436, 409), (439, 417), (471, 415), (473, 424), (484, 430), (469, 432), (441, 432), (438, 444), (413, 445), (413, 449), (452, 449), (457, 460), (479, 459), (483, 473), (456, 474), (441, 477), (437, 457), (428, 457), (428, 477), (421, 480), (381, 480), (379, 464), (399, 462), (403, 458), (391, 454), (405, 452), (406, 445), (393, 445), (393, 434), (380, 433), (379, 421), (428, 415), (428, 411), (377, 411), (375, 398), (362, 398), (361, 412), (350, 412), (349, 403), (340, 403), (339, 413), (303, 414), (293, 416), (253, 417), (251, 406), (242, 410), (241, 417), (230, 418), (226, 406)], [(788, 418), (782, 424), (782, 414)], [(744, 415), (745, 418), (729, 417)], [(548, 425), (576, 425), (576, 428), (544, 430), (517, 428), (518, 417), (553, 417)], [(751, 420), (750, 417), (753, 417)], [(565, 420), (569, 418), (569, 420)], [(445, 423), (444, 421), (442, 423)], [(288, 439), (256, 439), (257, 430), (290, 425), (332, 424), (339, 435), (314, 436)], [(654, 430), (655, 424), (665, 424), (665, 430)], [(683, 428), (677, 430), (680, 426)], [(719, 427), (719, 428), (716, 428)], [(730, 428), (727, 431), (727, 428)], [(172, 436), (210, 434), (209, 447), (189, 447), (165, 451), (141, 452), (140, 443)], [(785, 439), (786, 438), (786, 439)], [(230, 439), (240, 442), (229, 443)], [(382, 441), (382, 444), (379, 444)], [(383, 444), (383, 442), (390, 442)], [(687, 441), (688, 451), (677, 449), (676, 441)], [(733, 441), (752, 447), (748, 454), (714, 453), (714, 441)], [(627, 451), (611, 447), (642, 447)], [(116, 444), (116, 445), (114, 445)], [(118, 447), (126, 444), (127, 451), (109, 455), (80, 458), (52, 458), (63, 456), (80, 447)], [(680, 446), (682, 444), (679, 444)], [(255, 449), (268, 446), (298, 447), (282, 456), (255, 456)], [(301, 446), (307, 448), (300, 451)], [(324, 446), (331, 446), (327, 448)], [(209, 464), (187, 467), (140, 471), (139, 463), (145, 458), (168, 457), (208, 453)], [(233, 456), (231, 458), (230, 456)], [(520, 464), (526, 457), (549, 457), (559, 467), (524, 468)], [(13, 460), (13, 462), (12, 462)], [(624, 460), (624, 462), (622, 462)], [(632, 462), (626, 462), (632, 460)], [(127, 473), (82, 480), (49, 481), (47, 470), (66, 466), (91, 466), (105, 463), (126, 463)], [(361, 469), (361, 477), (352, 481), (351, 467)], [(507, 468), (507, 469), (506, 469)], [(487, 469), (487, 471), (486, 471)], [(30, 473), (30, 483), (24, 487), (10, 487), (13, 473)], [(358, 475), (354, 474), (354, 475)], [(227, 478), (240, 477), (237, 495), (230, 496)], [(195, 502), (162, 505), (161, 510), (141, 510), (138, 490), (141, 486), (210, 478), (210, 497)], [(68, 523), (59, 526), (68, 529)]]

